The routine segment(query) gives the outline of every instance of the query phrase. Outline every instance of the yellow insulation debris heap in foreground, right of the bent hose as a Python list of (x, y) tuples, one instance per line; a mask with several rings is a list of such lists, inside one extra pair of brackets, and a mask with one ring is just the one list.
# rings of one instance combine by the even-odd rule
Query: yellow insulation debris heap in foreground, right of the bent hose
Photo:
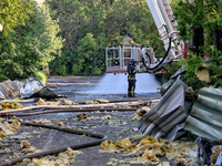
[(169, 142), (151, 136), (141, 136), (115, 142), (107, 139), (100, 146), (102, 152), (127, 152), (129, 155), (135, 155), (138, 157), (134, 162), (144, 165), (161, 164), (159, 157), (164, 156), (170, 160), (174, 159), (175, 163), (185, 165), (196, 162), (196, 157), (190, 157), (190, 152), (196, 152), (198, 145), (190, 142)]

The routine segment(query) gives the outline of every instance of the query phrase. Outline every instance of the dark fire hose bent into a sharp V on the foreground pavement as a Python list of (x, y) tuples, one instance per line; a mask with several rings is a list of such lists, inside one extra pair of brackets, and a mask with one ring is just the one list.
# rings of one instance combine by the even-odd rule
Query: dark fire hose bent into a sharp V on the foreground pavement
[(82, 131), (77, 131), (77, 129), (62, 128), (62, 127), (58, 127), (58, 126), (46, 125), (46, 124), (36, 124), (36, 123), (30, 123), (30, 122), (21, 122), (21, 124), (27, 125), (27, 126), (57, 129), (57, 131), (71, 133), (71, 134), (85, 135), (85, 136), (90, 136), (90, 137), (94, 137), (94, 138), (99, 138), (99, 139), (93, 141), (93, 142), (79, 144), (79, 145), (71, 144), (71, 145), (58, 147), (58, 148), (54, 148), (54, 149), (49, 149), (49, 151), (43, 151), (43, 152), (40, 152), (40, 153), (34, 153), (34, 154), (30, 154), (30, 155), (20, 156), (20, 157), (14, 157), (14, 158), (11, 158), (7, 162), (0, 163), (0, 166), (11, 166), (13, 164), (22, 162), (24, 158), (30, 158), (30, 159), (31, 158), (40, 158), (42, 156), (58, 154), (60, 152), (67, 151), (68, 147), (72, 148), (72, 149), (80, 149), (80, 148), (97, 146), (97, 145), (100, 145), (103, 141), (107, 139), (107, 136), (104, 136), (102, 134), (91, 133), (91, 132), (82, 132)]

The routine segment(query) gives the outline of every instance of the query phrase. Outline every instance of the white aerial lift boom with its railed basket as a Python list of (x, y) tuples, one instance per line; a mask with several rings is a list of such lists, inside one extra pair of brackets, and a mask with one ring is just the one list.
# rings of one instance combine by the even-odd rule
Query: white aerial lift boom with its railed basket
[[(186, 58), (188, 43), (178, 37), (178, 22), (173, 20), (173, 12), (168, 0), (147, 0), (151, 14), (164, 43), (165, 55), (157, 61), (152, 48), (112, 46), (105, 49), (107, 73), (127, 72), (127, 59), (135, 61), (135, 68), (141, 73), (153, 73), (164, 64)], [(131, 58), (124, 56), (124, 50), (131, 50)]]

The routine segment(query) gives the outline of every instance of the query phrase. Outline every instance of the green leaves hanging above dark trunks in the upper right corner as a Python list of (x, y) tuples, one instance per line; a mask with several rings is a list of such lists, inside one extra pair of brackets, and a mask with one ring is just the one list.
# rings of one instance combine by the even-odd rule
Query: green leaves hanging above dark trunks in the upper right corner
[(212, 44), (213, 31), (222, 28), (222, 1), (195, 0), (195, 2), (186, 2), (173, 0), (173, 4), (181, 38), (184, 41), (190, 40), (194, 34), (194, 29), (203, 28), (205, 44)]

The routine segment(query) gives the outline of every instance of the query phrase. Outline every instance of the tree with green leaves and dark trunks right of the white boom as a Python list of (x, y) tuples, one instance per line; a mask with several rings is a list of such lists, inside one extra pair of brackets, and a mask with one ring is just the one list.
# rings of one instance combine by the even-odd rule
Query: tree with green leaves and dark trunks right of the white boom
[[(203, 49), (214, 44), (221, 50), (222, 1), (184, 0), (175, 1), (175, 19), (179, 21), (180, 35), (185, 40), (193, 38), (196, 52), (203, 55)], [(213, 38), (212, 38), (213, 37)]]

